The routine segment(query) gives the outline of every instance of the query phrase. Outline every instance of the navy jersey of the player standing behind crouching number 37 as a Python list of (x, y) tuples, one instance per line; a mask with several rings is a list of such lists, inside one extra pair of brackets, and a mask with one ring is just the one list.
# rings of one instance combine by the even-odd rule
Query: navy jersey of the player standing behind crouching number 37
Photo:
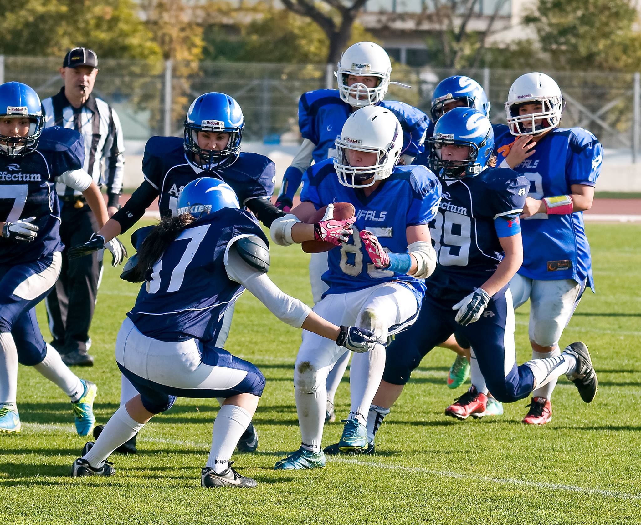
[(252, 198), (271, 198), (276, 181), (274, 163), (257, 153), (241, 152), (231, 165), (204, 172), (188, 162), (180, 137), (155, 136), (147, 140), (142, 173), (158, 190), (158, 207), (163, 216), (176, 213), (178, 195), (185, 185), (199, 177), (216, 177), (227, 182), (242, 206)]

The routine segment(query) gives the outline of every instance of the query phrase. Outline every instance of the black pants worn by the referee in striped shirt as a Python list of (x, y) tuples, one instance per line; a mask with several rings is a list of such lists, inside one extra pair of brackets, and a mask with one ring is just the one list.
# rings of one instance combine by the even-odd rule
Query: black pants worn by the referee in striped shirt
[(96, 216), (89, 206), (85, 203), (83, 207), (76, 208), (75, 204), (60, 202), (60, 238), (65, 245), (62, 271), (46, 298), (52, 344), (61, 354), (74, 350), (87, 353), (91, 344), (89, 327), (103, 271), (102, 251), (71, 261), (67, 257), (69, 248), (87, 242), (98, 230)]

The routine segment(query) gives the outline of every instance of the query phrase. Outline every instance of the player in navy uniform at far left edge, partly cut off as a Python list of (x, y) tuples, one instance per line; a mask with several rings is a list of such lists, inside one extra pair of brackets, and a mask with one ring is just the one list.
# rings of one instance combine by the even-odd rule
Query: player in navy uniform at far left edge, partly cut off
[[(44, 342), (35, 314), (54, 286), (62, 259), (60, 204), (63, 182), (81, 191), (99, 225), (108, 216), (96, 183), (82, 170), (85, 148), (77, 131), (44, 127), (37, 93), (19, 82), (0, 85), (0, 433), (18, 433), (18, 363), (33, 366), (71, 399), (79, 435), (87, 435), (96, 385), (79, 379)], [(124, 248), (108, 245), (113, 264)]]

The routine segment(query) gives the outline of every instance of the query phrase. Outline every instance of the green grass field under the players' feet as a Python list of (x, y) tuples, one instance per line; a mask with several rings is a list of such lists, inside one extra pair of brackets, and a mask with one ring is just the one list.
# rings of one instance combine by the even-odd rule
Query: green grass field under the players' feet
[[(228, 349), (256, 363), (267, 387), (254, 418), (260, 448), (235, 456), (235, 467), (256, 478), (257, 489), (199, 486), (215, 400), (179, 400), (154, 418), (138, 438), (138, 455), (112, 456), (112, 478), (69, 478), (86, 439), (74, 432), (64, 394), (21, 367), (22, 433), (0, 435), (0, 523), (639, 523), (641, 227), (590, 224), (588, 236), (597, 295), (585, 293), (562, 344), (582, 339), (590, 345), (600, 382), (591, 405), (563, 378), (554, 392), (553, 421), (542, 428), (520, 423), (525, 400), (506, 405), (503, 417), (454, 421), (444, 408), (467, 387), (447, 389), (453, 354), (437, 349), (385, 419), (376, 456), (330, 458), (320, 471), (276, 472), (276, 460), (300, 443), (292, 384), (300, 334), (245, 294)], [(274, 246), (270, 275), (310, 302), (306, 263), (296, 247)], [(118, 407), (115, 335), (137, 293), (118, 275), (106, 268), (99, 293), (91, 349), (96, 366), (76, 369), (99, 387), (99, 423)], [(38, 312), (47, 331), (42, 305)], [(517, 311), (519, 362), (530, 355), (527, 324), (525, 305)], [(339, 416), (348, 400), (345, 378)], [(326, 426), (324, 445), (336, 442), (341, 430), (340, 423)]]

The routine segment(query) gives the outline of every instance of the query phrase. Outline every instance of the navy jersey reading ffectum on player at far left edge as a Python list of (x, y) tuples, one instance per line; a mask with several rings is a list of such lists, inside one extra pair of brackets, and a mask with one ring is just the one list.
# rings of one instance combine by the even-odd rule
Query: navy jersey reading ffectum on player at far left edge
[(38, 147), (25, 156), (0, 154), (0, 221), (35, 217), (38, 236), (31, 242), (0, 238), (0, 264), (37, 261), (60, 252), (60, 204), (56, 177), (85, 162), (82, 136), (73, 129), (46, 127)]

